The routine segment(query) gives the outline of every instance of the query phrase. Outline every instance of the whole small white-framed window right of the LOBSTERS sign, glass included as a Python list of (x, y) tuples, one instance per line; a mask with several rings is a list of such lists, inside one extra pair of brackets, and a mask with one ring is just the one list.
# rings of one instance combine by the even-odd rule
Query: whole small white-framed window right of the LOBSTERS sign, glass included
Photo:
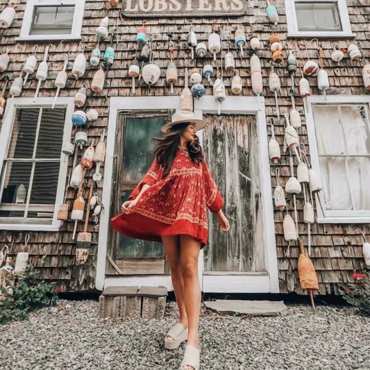
[(287, 0), (288, 37), (351, 37), (345, 0)]

